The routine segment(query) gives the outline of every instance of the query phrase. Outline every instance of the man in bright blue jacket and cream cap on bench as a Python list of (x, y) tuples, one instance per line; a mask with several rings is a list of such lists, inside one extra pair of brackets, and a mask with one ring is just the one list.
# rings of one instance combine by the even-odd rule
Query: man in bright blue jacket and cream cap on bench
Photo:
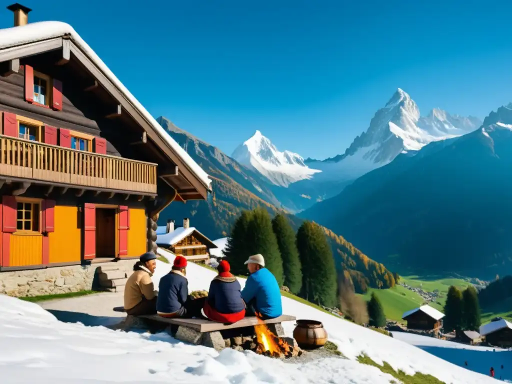
[(250, 273), (242, 290), (242, 298), (247, 306), (245, 315), (262, 319), (281, 316), (281, 290), (272, 272), (265, 268), (263, 256), (254, 254), (245, 264)]

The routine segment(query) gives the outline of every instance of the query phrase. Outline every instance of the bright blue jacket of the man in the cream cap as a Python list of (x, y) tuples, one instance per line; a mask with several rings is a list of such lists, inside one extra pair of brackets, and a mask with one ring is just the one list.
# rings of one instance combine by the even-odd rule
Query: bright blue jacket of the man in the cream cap
[(274, 318), (283, 314), (278, 281), (267, 268), (249, 275), (242, 290), (242, 298), (247, 305), (254, 300), (251, 303), (254, 309), (265, 317)]

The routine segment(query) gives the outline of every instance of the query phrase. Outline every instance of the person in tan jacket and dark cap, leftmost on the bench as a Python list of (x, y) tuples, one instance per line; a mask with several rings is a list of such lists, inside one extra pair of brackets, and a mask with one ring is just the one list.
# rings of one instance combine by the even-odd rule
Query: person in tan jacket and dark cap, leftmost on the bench
[(152, 315), (157, 313), (157, 295), (151, 276), (155, 272), (157, 255), (146, 252), (135, 263), (134, 272), (124, 287), (124, 310), (129, 315)]

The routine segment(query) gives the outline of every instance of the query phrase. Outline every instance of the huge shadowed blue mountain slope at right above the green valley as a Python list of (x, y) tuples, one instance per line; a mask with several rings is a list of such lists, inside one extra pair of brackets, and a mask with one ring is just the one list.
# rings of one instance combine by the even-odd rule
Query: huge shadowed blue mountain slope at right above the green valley
[(512, 104), (481, 129), (401, 154), (302, 212), (386, 264), (512, 270)]

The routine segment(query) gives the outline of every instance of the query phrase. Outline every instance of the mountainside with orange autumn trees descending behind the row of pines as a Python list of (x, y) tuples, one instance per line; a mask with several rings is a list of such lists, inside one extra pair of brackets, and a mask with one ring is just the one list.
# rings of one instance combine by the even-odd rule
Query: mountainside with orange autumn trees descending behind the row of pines
[[(259, 179), (261, 176), (258, 173), (237, 163), (218, 148), (179, 129), (168, 119), (159, 117), (157, 120), (212, 179), (212, 194), (207, 201), (171, 204), (160, 214), (159, 225), (165, 225), (167, 219), (179, 221), (188, 217), (190, 225), (198, 227), (205, 236), (215, 240), (229, 235), (243, 209), (263, 206), (271, 215), (281, 210), (269, 202), (274, 196), (264, 188), (265, 182)], [(288, 217), (297, 230), (303, 219), (293, 215)], [(364, 292), (368, 287), (387, 288), (395, 284), (393, 274), (385, 266), (368, 258), (343, 237), (326, 228), (324, 230), (333, 250), (336, 267), (339, 272), (349, 271), (358, 291)]]

